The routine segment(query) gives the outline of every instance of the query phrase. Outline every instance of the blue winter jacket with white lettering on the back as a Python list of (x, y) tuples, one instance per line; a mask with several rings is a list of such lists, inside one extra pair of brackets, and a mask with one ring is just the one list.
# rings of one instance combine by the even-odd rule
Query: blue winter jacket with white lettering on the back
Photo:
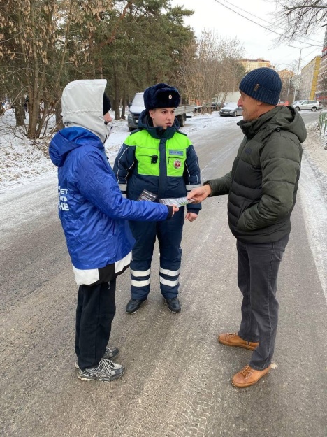
[(49, 147), (58, 167), (59, 217), (73, 266), (105, 267), (133, 248), (127, 220), (165, 220), (168, 208), (124, 199), (98, 136), (82, 127), (59, 131)]

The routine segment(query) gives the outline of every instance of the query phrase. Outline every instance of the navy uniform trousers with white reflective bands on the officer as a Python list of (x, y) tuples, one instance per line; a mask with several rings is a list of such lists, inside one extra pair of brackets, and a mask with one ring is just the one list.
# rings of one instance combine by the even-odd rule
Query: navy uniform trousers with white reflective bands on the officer
[(151, 261), (156, 236), (160, 251), (160, 289), (166, 299), (176, 297), (180, 285), (184, 207), (164, 222), (129, 222), (136, 243), (131, 261), (131, 297), (145, 300), (150, 292)]

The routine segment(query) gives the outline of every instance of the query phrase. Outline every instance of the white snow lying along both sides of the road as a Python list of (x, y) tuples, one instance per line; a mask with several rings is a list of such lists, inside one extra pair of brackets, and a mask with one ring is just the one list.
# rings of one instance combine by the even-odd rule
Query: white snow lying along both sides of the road
[[(212, 125), (217, 128), (219, 125), (222, 127), (224, 124), (235, 124), (235, 121), (234, 117), (219, 117), (217, 112), (196, 114), (187, 119), (181, 131), (191, 134)], [(54, 120), (50, 120), (49, 127), (53, 124)], [(114, 129), (105, 145), (110, 164), (114, 162), (119, 148), (129, 135), (126, 120), (113, 120), (112, 125)], [(316, 122), (307, 127), (307, 134), (307, 140), (303, 144), (299, 194), (312, 256), (327, 302), (327, 135), (326, 138), (319, 136)], [(45, 180), (48, 183), (49, 176), (56, 179), (57, 169), (48, 156), (49, 141), (50, 137), (38, 141), (24, 138), (22, 131), (15, 129), (15, 114), (12, 110), (0, 117), (0, 194), (8, 194), (14, 187), (28, 189), (42, 178), (48, 178)]]

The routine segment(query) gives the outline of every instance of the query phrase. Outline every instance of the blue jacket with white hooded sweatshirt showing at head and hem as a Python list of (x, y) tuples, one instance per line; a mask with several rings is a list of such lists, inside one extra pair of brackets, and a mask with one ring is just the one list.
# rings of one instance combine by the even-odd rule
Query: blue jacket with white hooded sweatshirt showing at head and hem
[(67, 127), (49, 147), (58, 167), (59, 218), (75, 279), (86, 285), (99, 280), (99, 268), (130, 259), (134, 240), (128, 220), (166, 220), (169, 211), (158, 203), (122, 197), (102, 142), (108, 133), (102, 110), (105, 88), (106, 80), (67, 85), (62, 96)]

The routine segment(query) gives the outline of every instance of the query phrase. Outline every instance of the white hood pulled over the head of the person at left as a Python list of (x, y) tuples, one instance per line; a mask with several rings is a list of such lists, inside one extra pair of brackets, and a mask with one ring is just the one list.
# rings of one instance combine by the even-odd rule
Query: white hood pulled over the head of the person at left
[(62, 121), (66, 127), (84, 127), (104, 143), (109, 129), (103, 120), (106, 79), (74, 80), (61, 96)]

